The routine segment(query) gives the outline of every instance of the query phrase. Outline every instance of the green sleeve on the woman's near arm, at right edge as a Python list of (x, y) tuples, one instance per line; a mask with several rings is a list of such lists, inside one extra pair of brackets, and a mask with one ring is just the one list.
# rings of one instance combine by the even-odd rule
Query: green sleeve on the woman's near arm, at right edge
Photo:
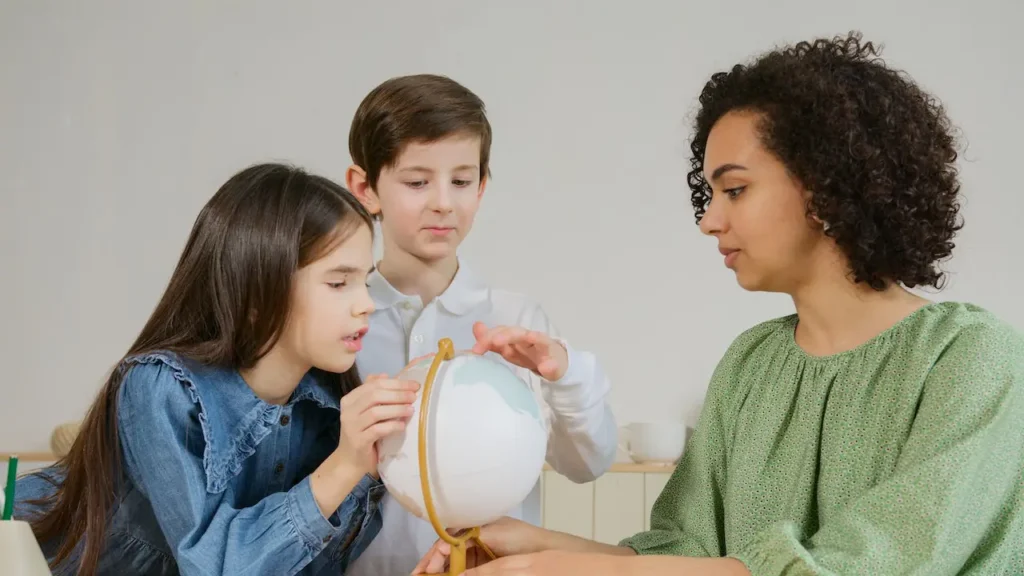
[(806, 539), (780, 523), (731, 556), (755, 576), (1001, 573), (1024, 536), (1022, 359), (1009, 331), (962, 332), (891, 477)]

